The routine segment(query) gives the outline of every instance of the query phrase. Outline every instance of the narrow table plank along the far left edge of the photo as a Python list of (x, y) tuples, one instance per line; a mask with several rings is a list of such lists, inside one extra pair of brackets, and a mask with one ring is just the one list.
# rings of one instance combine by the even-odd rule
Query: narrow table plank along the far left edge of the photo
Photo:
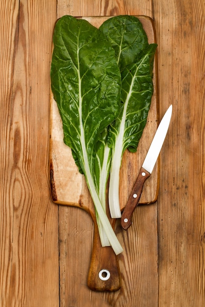
[[(2, 3), (1, 3), (2, 5)], [(13, 11), (10, 10), (13, 7)], [(1, 12), (4, 12), (7, 19), (0, 18), (0, 27), (2, 29), (0, 36), (0, 114), (3, 114), (3, 120), (0, 121), (0, 303), (5, 304), (9, 299), (9, 285), (11, 276), (11, 249), (12, 249), (12, 211), (9, 208), (9, 199), (12, 195), (9, 192), (10, 180), (12, 173), (12, 164), (9, 163), (8, 142), (9, 142), (9, 123), (6, 123), (10, 117), (10, 104), (12, 98), (12, 83), (13, 83), (13, 58), (15, 56), (16, 41), (16, 22), (18, 18), (18, 6), (15, 1), (4, 2)], [(2, 47), (8, 46), (8, 50)], [(7, 103), (3, 103), (3, 102)], [(3, 154), (2, 154), (3, 153)], [(11, 153), (12, 158), (12, 153)], [(5, 205), (7, 204), (7, 205)], [(10, 213), (11, 211), (11, 213)], [(3, 269), (2, 269), (3, 268)], [(8, 306), (8, 305), (7, 305)]]

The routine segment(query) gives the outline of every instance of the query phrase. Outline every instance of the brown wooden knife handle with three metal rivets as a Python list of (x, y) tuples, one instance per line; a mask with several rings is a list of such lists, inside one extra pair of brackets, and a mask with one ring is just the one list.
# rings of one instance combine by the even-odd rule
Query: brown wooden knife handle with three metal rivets
[(128, 202), (122, 212), (121, 216), (121, 226), (124, 230), (128, 230), (128, 228), (132, 225), (132, 215), (136, 208), (136, 206), (139, 203), (139, 200), (142, 195), (143, 186), (145, 183), (145, 180), (150, 176), (151, 174), (147, 172), (143, 167), (140, 170), (140, 173), (138, 175), (137, 180), (135, 181), (135, 185), (132, 189), (132, 192), (130, 194), (130, 197), (128, 199)]

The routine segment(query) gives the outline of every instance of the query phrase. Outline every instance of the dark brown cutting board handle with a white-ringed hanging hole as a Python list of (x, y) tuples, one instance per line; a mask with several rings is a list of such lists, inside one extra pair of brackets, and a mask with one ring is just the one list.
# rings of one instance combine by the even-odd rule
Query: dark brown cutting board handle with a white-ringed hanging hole
[(95, 291), (117, 291), (121, 286), (118, 259), (112, 247), (102, 247), (96, 223), (88, 272), (88, 287)]

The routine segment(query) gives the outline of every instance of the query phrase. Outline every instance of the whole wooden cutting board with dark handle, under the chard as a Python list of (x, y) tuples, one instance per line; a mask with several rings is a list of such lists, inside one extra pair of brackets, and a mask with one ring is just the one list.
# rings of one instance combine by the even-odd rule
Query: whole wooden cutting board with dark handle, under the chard
[[(153, 21), (147, 16), (139, 18), (146, 31), (148, 42), (156, 43)], [(82, 17), (93, 26), (99, 27), (110, 17)], [(158, 126), (158, 82), (157, 58), (155, 56), (153, 69), (154, 93), (149, 109), (146, 127), (139, 142), (136, 153), (126, 151), (122, 158), (120, 170), (120, 207), (124, 208), (137, 179), (140, 167), (143, 164), (149, 145)], [(94, 241), (90, 268), (88, 273), (88, 286), (99, 291), (116, 291), (120, 287), (120, 272), (117, 257), (111, 247), (101, 247), (95, 210), (92, 203), (84, 175), (80, 174), (72, 157), (69, 147), (63, 143), (62, 122), (59, 116), (57, 103), (51, 94), (51, 127), (50, 127), (50, 178), (51, 195), (53, 202), (59, 205), (69, 205), (86, 210), (94, 222)], [(159, 159), (151, 176), (146, 180), (140, 204), (150, 204), (156, 201), (159, 188)], [(109, 215), (109, 212), (108, 212)], [(110, 217), (109, 217), (110, 218)], [(111, 220), (111, 219), (110, 219)], [(111, 220), (113, 228), (115, 220)], [(132, 227), (131, 227), (132, 228)], [(131, 228), (129, 231), (131, 231)], [(122, 229), (122, 231), (124, 231)], [(107, 279), (106, 270), (110, 274)], [(103, 272), (102, 274), (100, 272)], [(99, 273), (101, 274), (99, 277)], [(106, 278), (103, 278), (103, 276)]]

